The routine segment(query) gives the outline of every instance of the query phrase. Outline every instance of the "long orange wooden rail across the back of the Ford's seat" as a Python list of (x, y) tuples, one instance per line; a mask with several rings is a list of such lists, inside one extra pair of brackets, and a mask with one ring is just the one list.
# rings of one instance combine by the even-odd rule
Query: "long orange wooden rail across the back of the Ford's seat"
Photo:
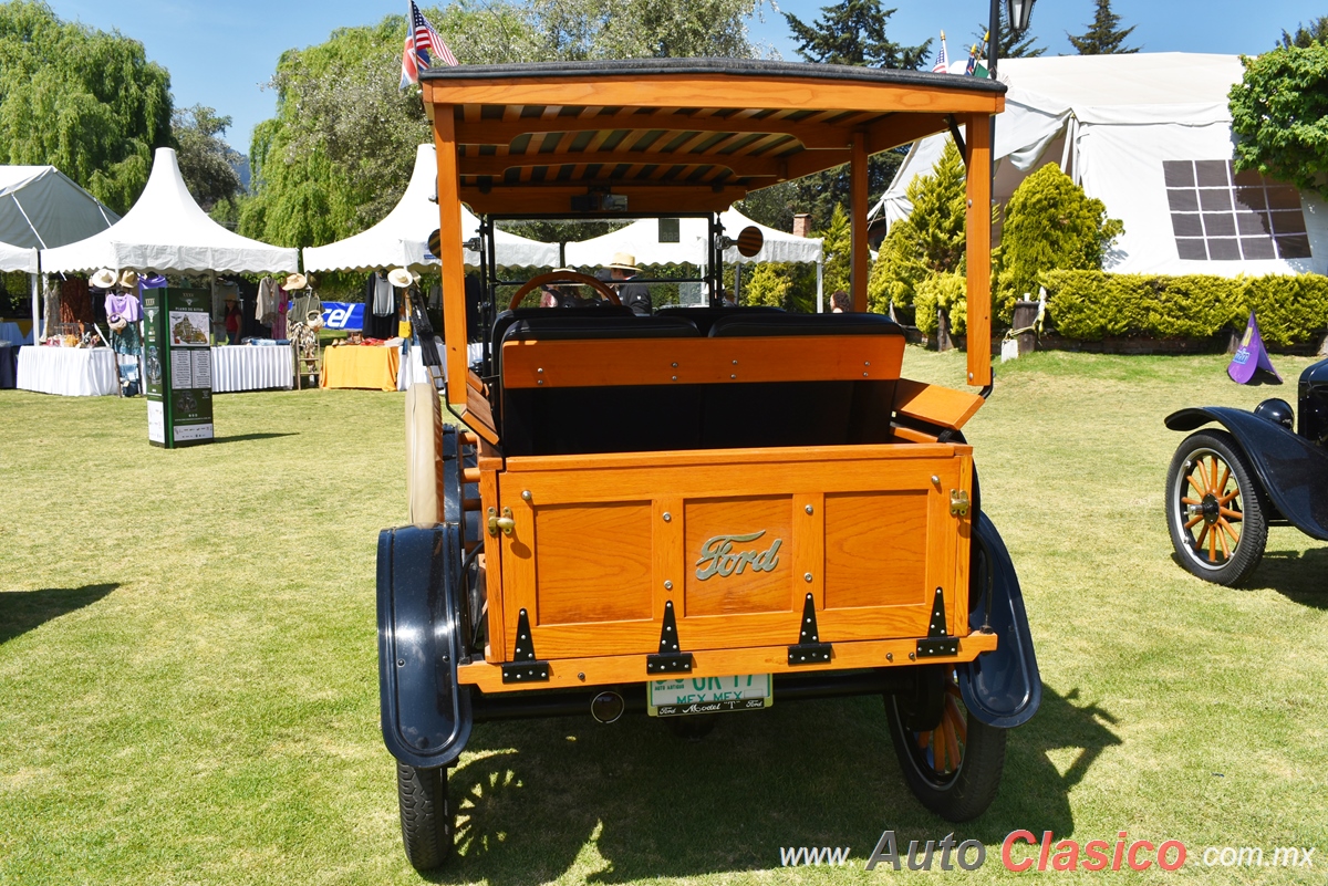
[(509, 341), (503, 385), (618, 387), (750, 382), (892, 381), (900, 336), (596, 338)]

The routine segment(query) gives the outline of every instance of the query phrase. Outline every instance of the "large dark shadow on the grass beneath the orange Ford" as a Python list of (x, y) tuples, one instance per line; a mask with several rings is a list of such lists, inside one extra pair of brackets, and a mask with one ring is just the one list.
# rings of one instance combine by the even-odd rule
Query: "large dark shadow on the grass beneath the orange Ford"
[(1114, 718), (1076, 699), (1044, 690), (1037, 716), (1009, 735), (996, 802), (964, 825), (908, 792), (879, 699), (724, 715), (703, 741), (648, 718), (482, 724), (478, 757), (450, 777), (459, 854), (432, 879), (685, 878), (776, 869), (782, 846), (849, 846), (861, 863), (886, 829), (903, 845), (951, 832), (988, 845), (1020, 828), (1070, 834), (1069, 791), (1120, 744)]

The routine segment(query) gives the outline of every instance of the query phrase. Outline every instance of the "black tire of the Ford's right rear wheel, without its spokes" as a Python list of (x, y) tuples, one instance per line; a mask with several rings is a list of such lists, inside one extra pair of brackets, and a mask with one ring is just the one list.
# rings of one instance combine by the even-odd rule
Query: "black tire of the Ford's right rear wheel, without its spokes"
[(899, 768), (922, 805), (955, 822), (972, 821), (987, 812), (1000, 789), (1005, 768), (1005, 729), (987, 726), (963, 711), (968, 740), (960, 753), (959, 769), (940, 775), (918, 748), (918, 733), (904, 726), (892, 695), (886, 696), (886, 715)]

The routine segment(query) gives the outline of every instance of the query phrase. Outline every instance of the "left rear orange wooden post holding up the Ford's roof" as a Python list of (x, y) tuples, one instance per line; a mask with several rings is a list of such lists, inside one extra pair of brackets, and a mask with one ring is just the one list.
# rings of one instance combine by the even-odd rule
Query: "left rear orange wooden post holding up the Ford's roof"
[(466, 269), (461, 247), (461, 179), (457, 175), (457, 121), (452, 105), (437, 105), (433, 143), (438, 154), (438, 239), (442, 252), (444, 362), (448, 369), (448, 402), (465, 411), (466, 373)]

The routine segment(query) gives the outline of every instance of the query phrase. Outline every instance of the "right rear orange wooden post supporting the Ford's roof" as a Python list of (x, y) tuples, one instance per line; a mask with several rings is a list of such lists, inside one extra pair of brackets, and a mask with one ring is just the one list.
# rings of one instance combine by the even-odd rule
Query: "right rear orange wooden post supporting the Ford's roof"
[(987, 114), (969, 114), (968, 141), (968, 383), (992, 383), (992, 202), (991, 126)]

